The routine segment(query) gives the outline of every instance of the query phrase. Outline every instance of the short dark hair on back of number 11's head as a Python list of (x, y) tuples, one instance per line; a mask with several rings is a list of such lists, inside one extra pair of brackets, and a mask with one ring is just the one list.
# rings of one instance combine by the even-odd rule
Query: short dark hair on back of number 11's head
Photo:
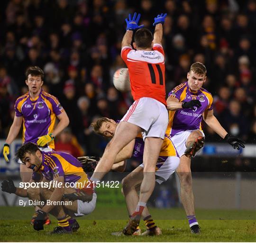
[(146, 28), (140, 28), (135, 32), (134, 42), (137, 47), (151, 48), (153, 41), (153, 35), (150, 30)]

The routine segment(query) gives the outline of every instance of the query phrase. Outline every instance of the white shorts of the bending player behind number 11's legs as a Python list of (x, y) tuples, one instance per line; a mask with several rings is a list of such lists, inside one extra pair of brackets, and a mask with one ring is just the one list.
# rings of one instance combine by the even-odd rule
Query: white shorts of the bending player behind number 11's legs
[[(165, 160), (164, 164), (155, 171), (155, 181), (158, 184), (161, 184), (162, 182), (169, 179), (170, 175), (174, 173), (174, 171), (177, 169), (177, 167), (180, 164), (180, 158), (176, 156), (169, 156)], [(144, 164), (140, 164), (142, 168), (144, 168)], [(157, 163), (156, 163), (157, 166)]]

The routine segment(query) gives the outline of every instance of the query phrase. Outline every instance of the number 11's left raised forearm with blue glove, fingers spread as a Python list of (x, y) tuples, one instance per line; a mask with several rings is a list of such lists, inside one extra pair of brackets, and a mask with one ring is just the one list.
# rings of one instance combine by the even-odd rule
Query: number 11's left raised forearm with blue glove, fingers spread
[(122, 48), (124, 46), (131, 45), (133, 31), (144, 27), (144, 25), (138, 26), (139, 18), (140, 18), (140, 14), (138, 14), (137, 16), (137, 13), (134, 13), (133, 17), (131, 17), (131, 14), (129, 14), (129, 18), (125, 19), (127, 27), (126, 27), (126, 33), (122, 40)]

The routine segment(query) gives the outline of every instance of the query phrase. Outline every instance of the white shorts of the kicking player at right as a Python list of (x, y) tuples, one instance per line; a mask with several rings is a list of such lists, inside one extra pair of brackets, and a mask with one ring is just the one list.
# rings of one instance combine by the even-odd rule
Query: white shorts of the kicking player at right
[[(187, 138), (188, 136), (193, 132), (193, 131), (196, 131), (196, 130), (186, 130), (186, 131), (181, 131), (177, 134), (175, 134), (174, 136), (171, 137), (171, 140), (173, 141), (173, 144), (178, 152), (178, 154), (180, 155), (180, 157), (185, 153), (185, 150), (187, 149), (186, 147), (186, 141), (187, 141)], [(198, 130), (201, 132), (201, 134), (203, 136), (204, 133), (203, 131), (201, 130)], [(201, 148), (202, 149), (202, 148)], [(201, 149), (199, 151), (201, 151)], [(198, 151), (198, 152), (199, 152)], [(197, 152), (197, 153), (198, 153)]]

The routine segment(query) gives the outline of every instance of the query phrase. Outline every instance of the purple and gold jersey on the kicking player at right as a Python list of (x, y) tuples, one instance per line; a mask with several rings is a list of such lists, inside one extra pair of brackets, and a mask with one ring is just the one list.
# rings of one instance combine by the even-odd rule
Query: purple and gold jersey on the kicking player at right
[(202, 130), (202, 114), (205, 110), (212, 109), (213, 99), (210, 92), (203, 88), (197, 92), (193, 92), (189, 89), (188, 82), (184, 82), (176, 86), (168, 96), (177, 98), (180, 102), (189, 102), (192, 99), (198, 99), (201, 102), (201, 107), (194, 107), (193, 110), (191, 108), (182, 108), (175, 111), (169, 111), (169, 123), (166, 133), (170, 136), (174, 136), (178, 132), (185, 130)]

